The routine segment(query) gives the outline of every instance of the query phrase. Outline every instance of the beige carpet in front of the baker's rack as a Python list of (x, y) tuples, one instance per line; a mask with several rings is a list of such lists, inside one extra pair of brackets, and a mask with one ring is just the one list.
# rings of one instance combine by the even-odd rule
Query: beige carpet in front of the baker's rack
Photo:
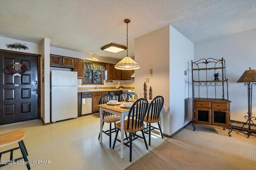
[(254, 170), (256, 138), (237, 130), (189, 125), (126, 170)]

